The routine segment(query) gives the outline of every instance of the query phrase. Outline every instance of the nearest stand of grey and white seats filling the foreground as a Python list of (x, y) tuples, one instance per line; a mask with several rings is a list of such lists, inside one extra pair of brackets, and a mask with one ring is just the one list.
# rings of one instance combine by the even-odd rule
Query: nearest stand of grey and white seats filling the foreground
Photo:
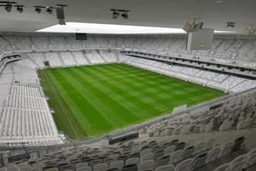
[[(236, 130), (236, 125), (240, 125), (244, 119), (251, 118), (247, 128), (253, 128), (251, 126), (255, 124), (255, 116), (252, 111), (255, 111), (256, 103), (250, 99), (255, 99), (255, 97), (255, 91), (249, 91), (226, 99), (220, 109), (184, 114), (156, 123), (143, 130), (149, 134), (149, 137), (144, 135), (141, 139), (134, 141), (118, 142), (97, 148), (87, 145), (63, 147), (40, 156), (36, 152), (31, 152), (30, 156), (35, 155), (35, 157), (25, 161), (13, 161), (6, 158), (5, 162), (9, 163), (1, 170), (26, 170), (28, 168), (42, 170), (49, 168), (59, 170), (66, 168), (72, 170), (125, 170), (126, 168), (128, 170), (219, 170), (223, 167), (230, 168), (229, 170), (234, 170), (234, 168), (245, 170), (255, 164), (255, 138), (252, 136), (254, 129), (251, 129), (252, 131)], [(245, 100), (249, 103), (243, 106), (241, 101)], [(220, 117), (222, 115), (224, 118)], [(218, 132), (218, 127), (236, 120), (235, 118), (239, 118), (240, 121), (231, 124), (228, 131)], [(201, 130), (203, 122), (209, 122), (205, 130)], [(201, 124), (200, 127), (199, 124)], [(212, 126), (209, 126), (210, 124)], [(163, 128), (168, 126), (172, 126), (175, 131), (168, 131), (170, 133), (168, 135), (159, 134)], [(180, 134), (176, 134), (178, 130), (176, 126), (179, 128), (186, 126), (186, 128), (183, 128), (183, 133), (180, 131)], [(214, 133), (209, 132), (209, 127)], [(150, 137), (152, 133), (154, 136)]]

